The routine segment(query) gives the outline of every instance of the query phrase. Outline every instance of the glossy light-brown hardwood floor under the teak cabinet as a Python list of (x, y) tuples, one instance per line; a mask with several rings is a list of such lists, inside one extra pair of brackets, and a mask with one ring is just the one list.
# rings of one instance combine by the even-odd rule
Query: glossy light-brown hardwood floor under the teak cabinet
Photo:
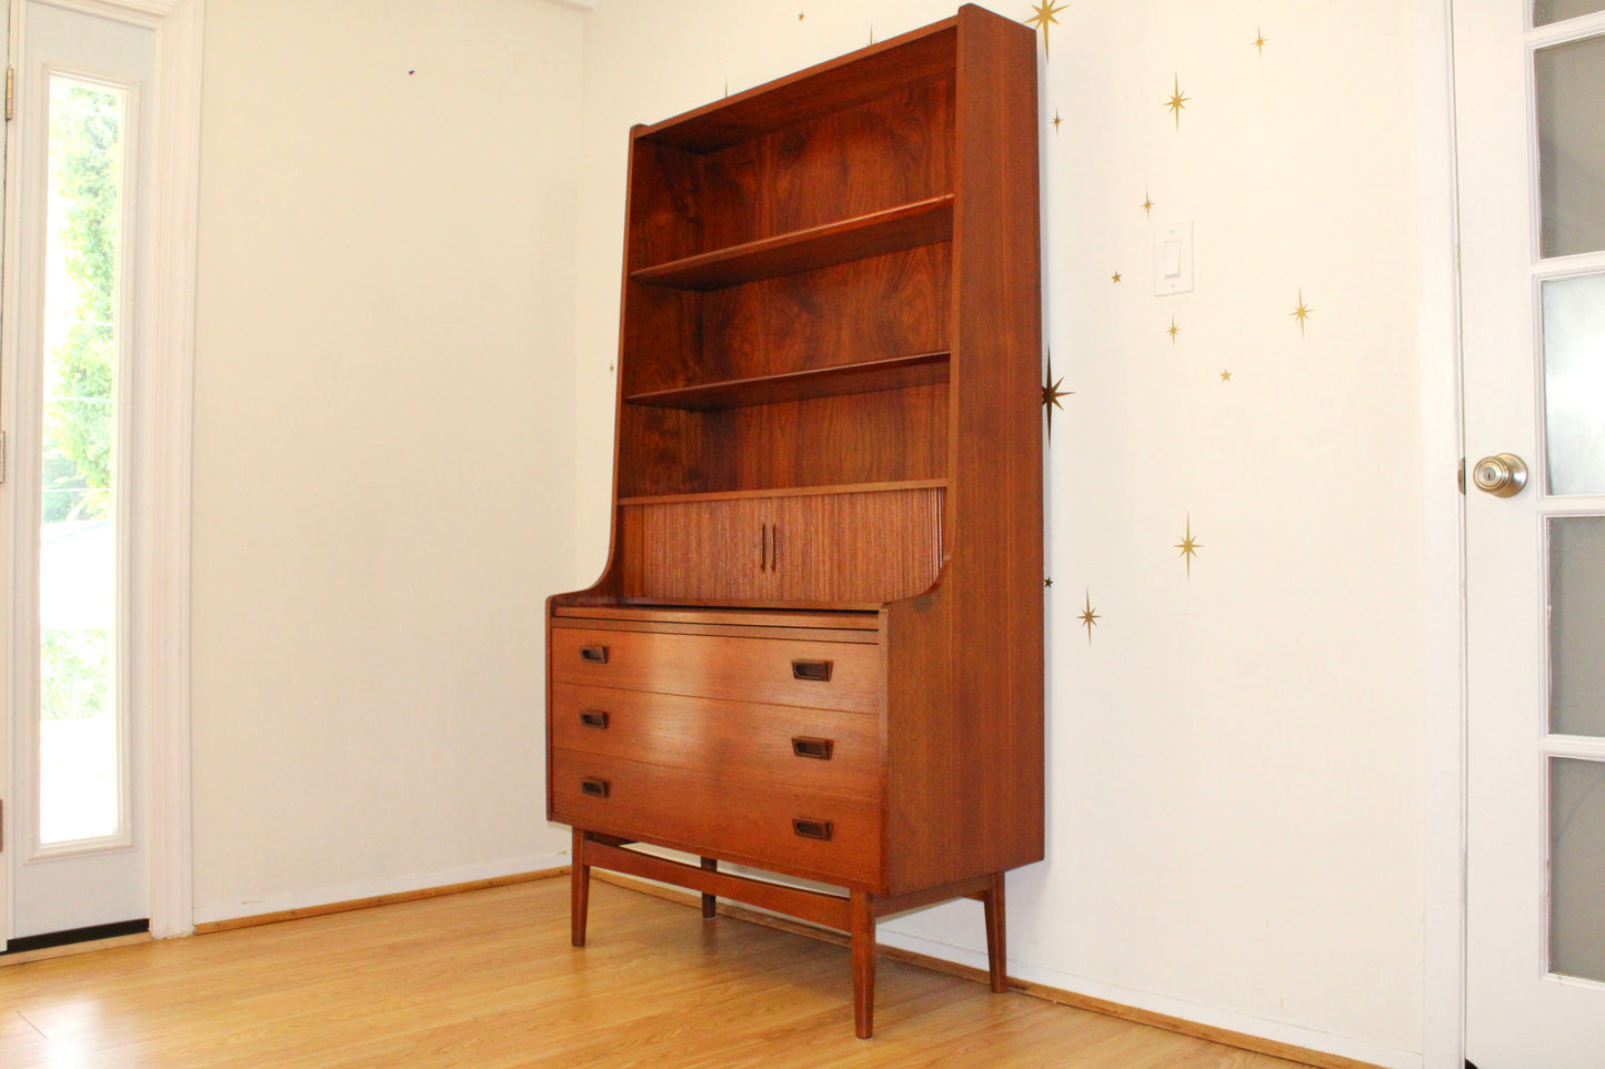
[(542, 880), (0, 969), (8, 1069), (228, 1066), (1294, 1066), (607, 883), (568, 945)]

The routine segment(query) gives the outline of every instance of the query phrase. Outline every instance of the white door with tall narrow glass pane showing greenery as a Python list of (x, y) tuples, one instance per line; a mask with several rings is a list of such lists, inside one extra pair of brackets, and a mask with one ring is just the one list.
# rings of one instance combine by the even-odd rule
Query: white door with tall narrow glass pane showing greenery
[(27, 0), (6, 376), (11, 949), (149, 917), (130, 533), (151, 29)]

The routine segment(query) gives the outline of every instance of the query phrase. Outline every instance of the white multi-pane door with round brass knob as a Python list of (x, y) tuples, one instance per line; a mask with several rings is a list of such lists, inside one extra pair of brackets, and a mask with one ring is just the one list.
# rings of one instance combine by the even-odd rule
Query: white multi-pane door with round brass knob
[[(1597, 1069), (1605, 0), (1454, 0), (1454, 63), (1467, 451), (1465, 1055), (1478, 1069)], [(1525, 462), (1525, 488), (1501, 454)]]

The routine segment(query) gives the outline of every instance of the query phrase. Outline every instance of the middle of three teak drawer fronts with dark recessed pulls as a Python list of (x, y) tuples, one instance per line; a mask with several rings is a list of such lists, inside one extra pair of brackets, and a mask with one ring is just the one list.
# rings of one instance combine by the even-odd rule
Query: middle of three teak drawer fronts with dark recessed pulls
[(727, 780), (880, 796), (880, 721), (863, 713), (552, 684), (552, 745)]

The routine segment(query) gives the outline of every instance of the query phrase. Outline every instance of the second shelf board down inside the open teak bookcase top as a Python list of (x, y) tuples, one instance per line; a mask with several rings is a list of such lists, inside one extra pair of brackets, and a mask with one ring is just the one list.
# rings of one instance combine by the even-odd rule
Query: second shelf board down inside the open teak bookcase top
[(899, 390), (904, 387), (947, 382), (949, 363), (950, 356), (945, 352), (891, 356), (888, 360), (868, 360), (836, 368), (812, 368), (809, 371), (790, 371), (756, 379), (727, 379), (681, 387), (677, 390), (632, 393), (624, 401), (652, 408), (700, 411), (806, 401), (815, 396), (873, 393), (875, 390)]

